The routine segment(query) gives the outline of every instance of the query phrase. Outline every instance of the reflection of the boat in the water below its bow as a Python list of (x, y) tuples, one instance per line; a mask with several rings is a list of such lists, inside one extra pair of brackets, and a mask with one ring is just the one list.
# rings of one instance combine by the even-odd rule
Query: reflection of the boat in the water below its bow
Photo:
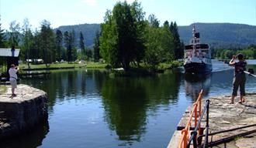
[(185, 93), (187, 96), (191, 96), (192, 99), (197, 99), (199, 92), (203, 89), (203, 94), (209, 93), (209, 87), (211, 85), (211, 74), (207, 75), (192, 75), (185, 74)]

